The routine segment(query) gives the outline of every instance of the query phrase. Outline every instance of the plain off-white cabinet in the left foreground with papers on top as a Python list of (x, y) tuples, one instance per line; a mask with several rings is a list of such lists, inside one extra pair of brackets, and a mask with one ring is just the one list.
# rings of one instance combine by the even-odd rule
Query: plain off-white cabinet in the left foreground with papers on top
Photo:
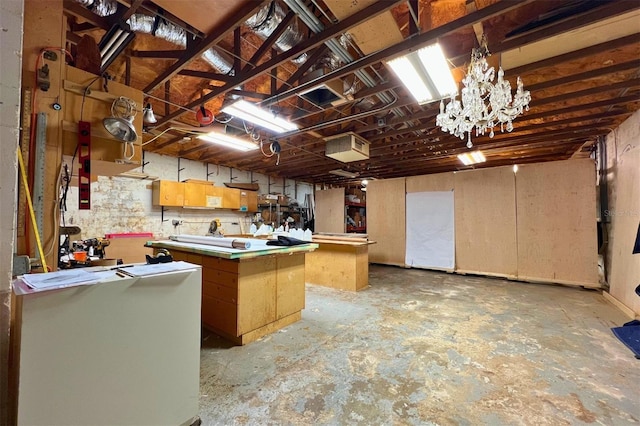
[(201, 267), (16, 296), (19, 425), (199, 420)]

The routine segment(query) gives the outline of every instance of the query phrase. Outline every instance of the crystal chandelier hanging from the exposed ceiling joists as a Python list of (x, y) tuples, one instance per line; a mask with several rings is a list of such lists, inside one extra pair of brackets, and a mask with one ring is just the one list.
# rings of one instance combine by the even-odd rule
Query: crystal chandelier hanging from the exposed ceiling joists
[(462, 79), (461, 101), (451, 96), (451, 100), (444, 106), (440, 101), (440, 113), (436, 117), (436, 125), (442, 130), (464, 140), (467, 133), (467, 147), (471, 148), (471, 130), (475, 127), (476, 136), (484, 135), (489, 130), (492, 138), (493, 128), (500, 125), (500, 131), (513, 130), (512, 121), (523, 110), (529, 110), (531, 93), (524, 90), (522, 80), (518, 77), (515, 96), (511, 94), (511, 84), (504, 79), (502, 67), (498, 69), (498, 81), (495, 85), (495, 69), (489, 67), (487, 56), (489, 49), (487, 41), (482, 36), (480, 47), (471, 52), (471, 64), (467, 75)]

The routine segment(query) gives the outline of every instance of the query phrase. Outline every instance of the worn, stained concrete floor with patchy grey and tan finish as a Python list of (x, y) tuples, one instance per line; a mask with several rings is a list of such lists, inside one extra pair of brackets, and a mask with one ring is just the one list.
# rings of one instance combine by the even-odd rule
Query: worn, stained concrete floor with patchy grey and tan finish
[(302, 320), (243, 347), (203, 333), (205, 425), (628, 425), (640, 360), (602, 295), (370, 268), (370, 288), (307, 285)]

